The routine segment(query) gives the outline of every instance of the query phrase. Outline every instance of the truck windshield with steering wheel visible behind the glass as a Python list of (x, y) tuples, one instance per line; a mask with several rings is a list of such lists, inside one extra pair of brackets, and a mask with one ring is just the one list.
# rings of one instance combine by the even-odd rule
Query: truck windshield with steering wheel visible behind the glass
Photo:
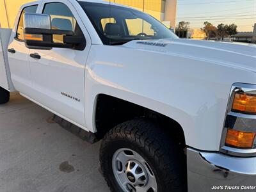
[(79, 2), (103, 44), (125, 44), (131, 40), (178, 38), (170, 29), (146, 13), (104, 3)]

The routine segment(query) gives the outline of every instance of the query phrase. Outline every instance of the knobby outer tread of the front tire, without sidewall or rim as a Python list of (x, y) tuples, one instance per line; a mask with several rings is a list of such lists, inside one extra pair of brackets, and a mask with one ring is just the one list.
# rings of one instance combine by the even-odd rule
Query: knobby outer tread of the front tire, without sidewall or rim
[[(157, 123), (145, 118), (137, 118), (116, 125), (111, 129), (102, 141), (100, 148), (100, 165), (102, 173), (108, 183), (111, 191), (115, 191), (108, 179), (108, 172), (104, 168), (104, 159), (106, 158), (106, 148), (113, 140), (129, 140), (140, 146), (147, 154), (150, 154), (156, 166), (163, 170), (162, 177), (164, 188), (173, 191), (185, 191), (184, 185), (186, 175), (186, 158), (180, 152), (179, 145), (168, 138), (160, 131)], [(182, 164), (185, 163), (185, 164)], [(184, 168), (185, 167), (185, 168)], [(185, 175), (182, 175), (185, 174)], [(183, 178), (183, 179), (182, 179)]]

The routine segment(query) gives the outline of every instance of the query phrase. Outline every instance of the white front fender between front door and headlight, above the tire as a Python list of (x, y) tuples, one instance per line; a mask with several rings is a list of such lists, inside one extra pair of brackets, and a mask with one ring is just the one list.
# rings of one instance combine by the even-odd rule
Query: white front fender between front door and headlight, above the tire
[(86, 127), (97, 132), (95, 100), (103, 93), (169, 116), (182, 126), (190, 147), (219, 150), (231, 86), (253, 78), (252, 72), (211, 61), (92, 45), (86, 65)]

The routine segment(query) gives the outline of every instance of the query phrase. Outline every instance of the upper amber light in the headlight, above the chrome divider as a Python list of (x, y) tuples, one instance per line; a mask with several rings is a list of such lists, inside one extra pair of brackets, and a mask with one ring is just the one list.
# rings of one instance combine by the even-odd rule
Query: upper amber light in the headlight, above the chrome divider
[(256, 115), (256, 95), (235, 93), (232, 111)]

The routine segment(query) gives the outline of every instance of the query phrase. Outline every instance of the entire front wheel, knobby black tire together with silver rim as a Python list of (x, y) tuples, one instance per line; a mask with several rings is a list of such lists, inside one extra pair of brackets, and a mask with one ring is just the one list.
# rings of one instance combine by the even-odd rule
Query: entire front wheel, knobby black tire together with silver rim
[(111, 191), (186, 191), (186, 158), (158, 125), (143, 118), (111, 129), (100, 164)]

